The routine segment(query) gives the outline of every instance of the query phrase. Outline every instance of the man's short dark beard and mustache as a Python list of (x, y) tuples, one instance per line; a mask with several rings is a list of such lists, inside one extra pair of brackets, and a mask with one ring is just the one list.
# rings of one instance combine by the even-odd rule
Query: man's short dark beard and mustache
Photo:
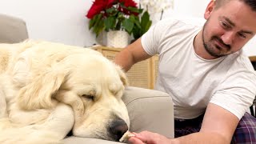
[[(207, 53), (210, 54), (211, 56), (213, 56), (214, 58), (220, 58), (220, 57), (230, 54), (230, 48), (231, 48), (230, 45), (226, 45), (222, 41), (222, 39), (219, 38), (218, 36), (216, 36), (216, 35), (212, 36), (210, 38), (210, 40), (208, 42), (206, 42), (204, 33), (205, 33), (205, 28), (206, 28), (207, 22), (208, 22), (208, 20), (206, 21), (205, 25), (202, 28), (202, 43), (203, 43), (203, 46), (204, 46), (205, 50), (207, 51)], [(210, 41), (218, 41), (218, 42), (222, 43), (222, 45), (224, 45), (225, 47), (219, 47), (219, 46), (214, 47), (213, 43), (210, 43)], [(219, 51), (216, 52), (216, 50), (214, 50), (214, 49), (218, 49)], [(227, 50), (223, 51), (224, 49), (227, 49)]]

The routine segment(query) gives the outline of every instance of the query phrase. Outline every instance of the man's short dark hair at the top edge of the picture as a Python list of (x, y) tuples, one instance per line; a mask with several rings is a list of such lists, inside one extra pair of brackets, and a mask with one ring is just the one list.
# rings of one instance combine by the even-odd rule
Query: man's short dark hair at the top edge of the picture
[[(234, 0), (214, 0), (215, 9), (218, 9), (221, 6), (224, 6), (226, 3), (234, 1)], [(247, 6), (250, 6), (251, 10), (256, 11), (256, 0), (236, 0), (240, 2), (244, 2)]]

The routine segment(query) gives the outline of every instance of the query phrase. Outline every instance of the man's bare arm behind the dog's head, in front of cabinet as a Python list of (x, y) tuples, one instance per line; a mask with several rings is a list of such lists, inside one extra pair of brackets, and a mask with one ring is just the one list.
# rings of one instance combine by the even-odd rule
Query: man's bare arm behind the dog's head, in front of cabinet
[(118, 53), (114, 58), (114, 62), (121, 66), (123, 70), (128, 71), (136, 62), (150, 57), (142, 47), (141, 38), (138, 38), (137, 41), (126, 46), (124, 50)]

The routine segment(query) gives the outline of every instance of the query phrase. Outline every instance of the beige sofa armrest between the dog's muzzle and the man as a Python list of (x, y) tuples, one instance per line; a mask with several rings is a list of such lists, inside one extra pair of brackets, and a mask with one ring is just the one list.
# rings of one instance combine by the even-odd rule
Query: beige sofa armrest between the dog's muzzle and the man
[(174, 138), (174, 106), (169, 94), (129, 86), (122, 100), (129, 113), (130, 131), (148, 130)]

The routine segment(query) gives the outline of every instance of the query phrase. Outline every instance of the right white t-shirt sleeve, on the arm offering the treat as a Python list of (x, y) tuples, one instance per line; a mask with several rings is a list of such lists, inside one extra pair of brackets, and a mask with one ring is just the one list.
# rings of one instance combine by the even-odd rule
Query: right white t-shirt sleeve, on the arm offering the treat
[[(245, 66), (248, 67), (248, 66)], [(239, 119), (252, 105), (256, 94), (254, 70), (229, 70), (210, 102), (229, 110)]]

